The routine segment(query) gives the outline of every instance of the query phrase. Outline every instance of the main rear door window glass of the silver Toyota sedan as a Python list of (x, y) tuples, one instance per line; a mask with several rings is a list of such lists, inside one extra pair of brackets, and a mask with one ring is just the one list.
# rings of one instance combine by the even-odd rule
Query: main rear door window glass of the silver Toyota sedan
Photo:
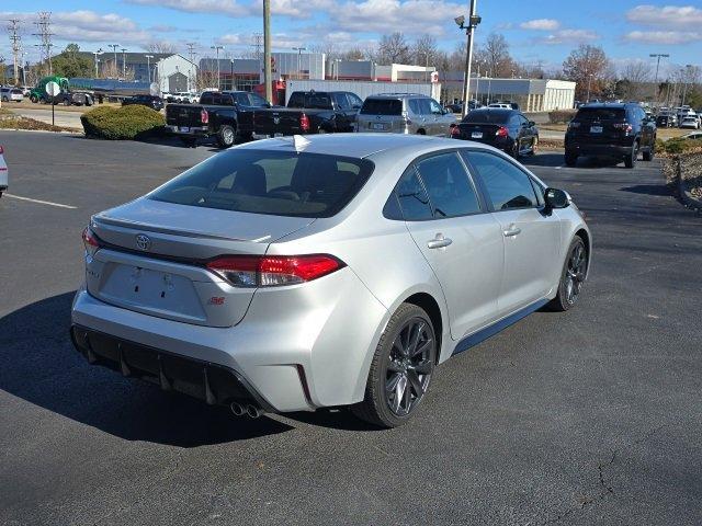
[(478, 198), (463, 162), (454, 152), (417, 162), (433, 208), (433, 217), (465, 216), (480, 211)]

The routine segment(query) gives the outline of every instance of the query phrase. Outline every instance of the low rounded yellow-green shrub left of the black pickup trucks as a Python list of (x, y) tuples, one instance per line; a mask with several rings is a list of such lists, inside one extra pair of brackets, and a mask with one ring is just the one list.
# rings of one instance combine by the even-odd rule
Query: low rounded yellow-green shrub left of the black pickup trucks
[(121, 107), (102, 106), (81, 115), (86, 137), (94, 139), (144, 139), (162, 132), (166, 118), (139, 104)]

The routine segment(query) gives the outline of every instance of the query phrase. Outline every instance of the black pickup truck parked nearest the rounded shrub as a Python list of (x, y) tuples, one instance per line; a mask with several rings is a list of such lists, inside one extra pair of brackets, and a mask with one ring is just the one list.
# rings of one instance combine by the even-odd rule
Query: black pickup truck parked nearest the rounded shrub
[(214, 138), (222, 148), (229, 148), (251, 138), (253, 112), (264, 107), (271, 105), (256, 93), (205, 91), (200, 104), (167, 104), (166, 126), (189, 147)]

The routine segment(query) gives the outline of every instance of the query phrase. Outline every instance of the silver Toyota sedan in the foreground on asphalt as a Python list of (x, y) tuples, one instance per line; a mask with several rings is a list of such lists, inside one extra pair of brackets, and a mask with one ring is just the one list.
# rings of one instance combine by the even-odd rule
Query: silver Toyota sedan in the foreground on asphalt
[(569, 309), (589, 268), (565, 192), (456, 142), (261, 140), (97, 214), (76, 347), (237, 415), (348, 405), (403, 424), (438, 364)]

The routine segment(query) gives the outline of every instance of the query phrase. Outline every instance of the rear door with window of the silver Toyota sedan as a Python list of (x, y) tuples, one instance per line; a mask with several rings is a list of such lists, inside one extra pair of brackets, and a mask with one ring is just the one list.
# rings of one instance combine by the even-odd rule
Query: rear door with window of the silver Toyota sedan
[(396, 188), (407, 228), (433, 270), (460, 339), (497, 317), (501, 283), (500, 225), (456, 151), (419, 158)]

